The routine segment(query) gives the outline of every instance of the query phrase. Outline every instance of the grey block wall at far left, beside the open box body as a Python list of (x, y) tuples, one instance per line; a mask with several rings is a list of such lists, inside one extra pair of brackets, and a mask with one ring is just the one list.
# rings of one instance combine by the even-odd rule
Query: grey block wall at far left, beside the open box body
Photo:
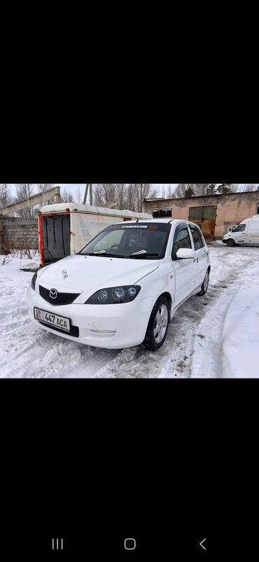
[(0, 245), (7, 249), (38, 249), (38, 220), (0, 217)]

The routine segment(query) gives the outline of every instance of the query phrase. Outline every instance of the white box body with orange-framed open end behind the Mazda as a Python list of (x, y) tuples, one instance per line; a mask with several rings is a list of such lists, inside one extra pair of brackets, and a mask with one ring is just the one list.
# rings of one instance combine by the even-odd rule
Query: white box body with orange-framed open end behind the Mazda
[(79, 203), (45, 205), (38, 213), (41, 265), (80, 252), (94, 236), (111, 224), (137, 219), (152, 219), (152, 215)]

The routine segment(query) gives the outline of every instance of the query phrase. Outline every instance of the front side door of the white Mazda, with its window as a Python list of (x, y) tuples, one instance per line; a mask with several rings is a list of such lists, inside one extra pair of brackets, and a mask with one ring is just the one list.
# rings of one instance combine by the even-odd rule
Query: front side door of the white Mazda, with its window
[(174, 306), (182, 301), (195, 290), (196, 263), (191, 259), (178, 259), (177, 250), (180, 248), (192, 249), (188, 224), (182, 223), (176, 226), (172, 243), (172, 266), (174, 267)]

